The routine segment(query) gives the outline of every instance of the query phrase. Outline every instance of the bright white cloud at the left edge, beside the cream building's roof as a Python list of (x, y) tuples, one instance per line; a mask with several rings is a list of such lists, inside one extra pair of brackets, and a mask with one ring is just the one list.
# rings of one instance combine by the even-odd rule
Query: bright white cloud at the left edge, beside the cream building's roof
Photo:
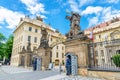
[(11, 11), (0, 6), (0, 24), (8, 24), (7, 28), (13, 29), (19, 23), (20, 18), (24, 17), (24, 14)]

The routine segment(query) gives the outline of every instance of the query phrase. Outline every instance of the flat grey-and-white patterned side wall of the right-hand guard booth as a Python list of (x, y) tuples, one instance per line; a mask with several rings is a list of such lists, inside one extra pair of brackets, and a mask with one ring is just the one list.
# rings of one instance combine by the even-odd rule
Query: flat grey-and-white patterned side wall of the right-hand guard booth
[(76, 55), (71, 55), (71, 73), (72, 75), (78, 74), (78, 63)]

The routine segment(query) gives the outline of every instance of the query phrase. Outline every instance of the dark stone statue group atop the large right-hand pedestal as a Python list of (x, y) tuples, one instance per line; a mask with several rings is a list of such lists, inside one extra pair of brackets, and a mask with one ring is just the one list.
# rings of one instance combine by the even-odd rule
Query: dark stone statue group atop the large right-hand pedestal
[(80, 18), (78, 13), (70, 12), (70, 16), (66, 16), (66, 19), (70, 21), (70, 31), (66, 34), (68, 39), (82, 38), (84, 32), (80, 28)]

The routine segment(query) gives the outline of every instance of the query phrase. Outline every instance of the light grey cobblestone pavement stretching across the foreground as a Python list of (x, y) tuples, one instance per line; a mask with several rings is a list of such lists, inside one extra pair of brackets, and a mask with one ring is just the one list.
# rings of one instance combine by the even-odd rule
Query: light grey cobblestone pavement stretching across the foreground
[(29, 69), (3, 66), (0, 67), (0, 80), (104, 80), (98, 78), (71, 76), (58, 71), (32, 71)]

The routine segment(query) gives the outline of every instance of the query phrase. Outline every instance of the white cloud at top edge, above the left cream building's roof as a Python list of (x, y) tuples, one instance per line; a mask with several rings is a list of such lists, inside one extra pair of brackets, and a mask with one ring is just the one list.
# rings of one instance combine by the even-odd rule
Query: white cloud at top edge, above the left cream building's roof
[(39, 3), (38, 0), (21, 0), (26, 5), (27, 10), (32, 14), (47, 13), (44, 4)]

